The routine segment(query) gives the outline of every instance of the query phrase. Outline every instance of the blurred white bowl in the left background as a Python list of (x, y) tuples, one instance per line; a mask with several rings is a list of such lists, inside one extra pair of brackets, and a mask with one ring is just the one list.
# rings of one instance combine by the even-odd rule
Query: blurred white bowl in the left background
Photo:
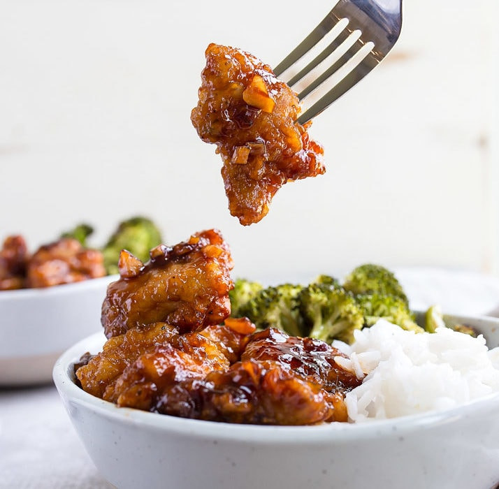
[(101, 305), (116, 279), (1, 291), (0, 386), (50, 382), (61, 353), (101, 329)]

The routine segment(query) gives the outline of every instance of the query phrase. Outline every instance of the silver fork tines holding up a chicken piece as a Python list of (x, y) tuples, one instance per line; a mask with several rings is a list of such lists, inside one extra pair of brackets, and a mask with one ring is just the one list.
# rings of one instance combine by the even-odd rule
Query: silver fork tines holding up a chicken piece
[[(310, 94), (317, 88), (333, 85), (298, 118), (298, 122), (305, 124), (320, 114), (375, 68), (393, 48), (401, 27), (402, 0), (339, 0), (324, 20), (274, 69), (277, 77), (300, 90), (298, 98), (302, 102), (306, 102), (307, 97), (312, 98)], [(328, 42), (322, 49), (321, 46)], [(314, 54), (318, 51), (319, 54)], [(300, 68), (300, 62), (303, 64), (303, 60), (306, 62), (310, 57), (313, 57), (312, 61)], [(326, 68), (321, 71), (324, 66)]]

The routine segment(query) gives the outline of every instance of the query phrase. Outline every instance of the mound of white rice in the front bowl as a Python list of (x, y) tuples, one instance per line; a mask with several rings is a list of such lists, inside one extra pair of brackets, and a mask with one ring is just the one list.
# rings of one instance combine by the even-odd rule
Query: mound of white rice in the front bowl
[(499, 392), (499, 347), (489, 350), (482, 335), (414, 333), (384, 320), (354, 335), (351, 345), (333, 343), (349, 355), (338, 363), (367, 374), (347, 393), (350, 421), (440, 411)]

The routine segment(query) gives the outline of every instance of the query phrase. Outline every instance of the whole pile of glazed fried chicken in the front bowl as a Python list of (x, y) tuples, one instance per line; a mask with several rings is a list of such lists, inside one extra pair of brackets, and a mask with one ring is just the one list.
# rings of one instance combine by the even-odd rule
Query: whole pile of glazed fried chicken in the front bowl
[(345, 355), (229, 316), (232, 260), (222, 235), (196, 233), (150, 256), (144, 264), (122, 251), (120, 280), (103, 304), (109, 339), (75, 364), (85, 391), (122, 407), (226, 423), (347, 421), (345, 394), (361, 379), (336, 362)]

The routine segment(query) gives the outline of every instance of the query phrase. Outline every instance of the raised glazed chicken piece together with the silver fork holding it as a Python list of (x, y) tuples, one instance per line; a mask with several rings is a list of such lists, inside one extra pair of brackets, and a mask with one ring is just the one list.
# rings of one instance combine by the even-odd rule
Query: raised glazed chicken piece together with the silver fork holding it
[(386, 57), (401, 25), (402, 0), (336, 0), (274, 70), (243, 50), (208, 46), (191, 121), (222, 155), (229, 210), (241, 224), (265, 217), (286, 182), (324, 173), (311, 120)]

